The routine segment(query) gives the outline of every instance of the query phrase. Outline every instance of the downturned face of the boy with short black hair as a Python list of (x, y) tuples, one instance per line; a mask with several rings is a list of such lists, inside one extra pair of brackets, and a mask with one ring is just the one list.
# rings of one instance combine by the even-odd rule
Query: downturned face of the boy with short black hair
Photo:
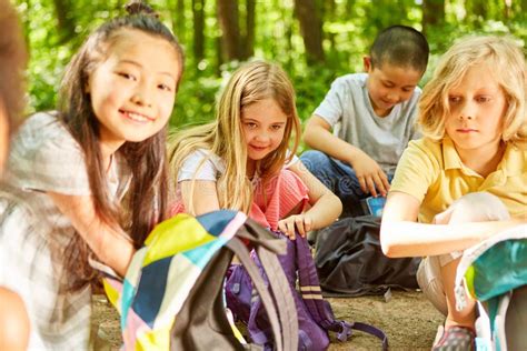
[(371, 59), (364, 59), (368, 72), (366, 82), (371, 107), (378, 117), (386, 117), (394, 106), (411, 98), (422, 72), (411, 68), (402, 68), (384, 62), (382, 66), (371, 64)]

